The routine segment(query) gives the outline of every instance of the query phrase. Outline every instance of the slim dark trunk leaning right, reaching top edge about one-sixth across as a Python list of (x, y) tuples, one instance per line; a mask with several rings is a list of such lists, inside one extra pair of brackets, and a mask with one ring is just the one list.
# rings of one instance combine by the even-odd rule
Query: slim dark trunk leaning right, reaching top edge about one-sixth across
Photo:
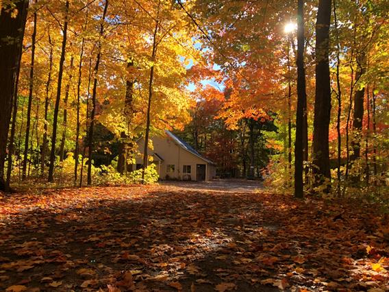
[(57, 140), (58, 111), (60, 109), (62, 74), (64, 73), (64, 62), (65, 62), (65, 53), (66, 53), (66, 37), (67, 37), (67, 32), (68, 32), (68, 11), (69, 11), (69, 1), (68, 0), (66, 0), (65, 8), (66, 9), (65, 9), (64, 29), (63, 29), (63, 38), (62, 38), (60, 68), (58, 69), (57, 97), (55, 99), (55, 106), (54, 106), (53, 134), (51, 135), (49, 182), (54, 182), (55, 141)]

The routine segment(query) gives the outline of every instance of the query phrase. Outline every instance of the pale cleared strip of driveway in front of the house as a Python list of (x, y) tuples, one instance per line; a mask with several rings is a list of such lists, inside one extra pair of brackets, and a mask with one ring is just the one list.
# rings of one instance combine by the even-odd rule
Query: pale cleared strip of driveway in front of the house
[(233, 193), (253, 193), (262, 188), (262, 182), (258, 180), (218, 179), (209, 182), (183, 182), (183, 181), (162, 181), (162, 186), (174, 188), (185, 188), (186, 190), (223, 191)]

